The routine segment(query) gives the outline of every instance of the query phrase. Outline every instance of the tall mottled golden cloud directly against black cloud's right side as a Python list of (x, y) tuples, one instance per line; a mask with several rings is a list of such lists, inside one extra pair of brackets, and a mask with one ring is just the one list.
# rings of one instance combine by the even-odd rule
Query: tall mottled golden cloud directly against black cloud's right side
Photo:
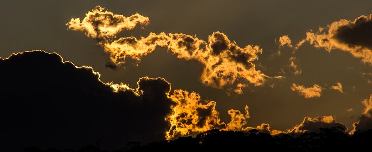
[(167, 139), (225, 127), (224, 123), (220, 123), (215, 101), (202, 103), (197, 93), (183, 90), (175, 90), (170, 98), (176, 104), (165, 118), (170, 124)]

